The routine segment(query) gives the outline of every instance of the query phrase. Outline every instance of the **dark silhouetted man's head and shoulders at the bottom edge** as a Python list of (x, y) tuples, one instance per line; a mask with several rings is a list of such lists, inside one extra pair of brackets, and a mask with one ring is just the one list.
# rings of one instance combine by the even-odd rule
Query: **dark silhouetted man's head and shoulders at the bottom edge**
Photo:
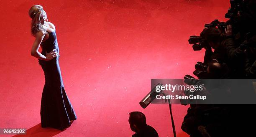
[(132, 137), (159, 137), (156, 130), (146, 124), (146, 117), (141, 112), (129, 113), (129, 124), (131, 130), (135, 132)]

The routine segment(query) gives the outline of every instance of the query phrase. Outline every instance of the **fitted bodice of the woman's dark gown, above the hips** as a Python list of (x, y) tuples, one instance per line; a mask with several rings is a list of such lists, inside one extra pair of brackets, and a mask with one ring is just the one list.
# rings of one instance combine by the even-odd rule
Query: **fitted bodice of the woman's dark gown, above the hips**
[[(59, 46), (58, 46), (58, 42), (57, 42), (56, 31), (48, 32), (48, 34), (49, 34), (49, 38), (46, 41), (41, 42), (41, 47), (42, 47), (41, 54), (44, 56), (46, 56), (46, 52), (49, 53), (53, 49), (56, 49), (56, 51), (59, 53)], [(58, 61), (58, 60), (59, 60), (59, 56), (52, 59), (51, 61)], [(42, 65), (43, 63), (45, 63), (47, 61), (39, 59), (38, 62), (40, 65)]]

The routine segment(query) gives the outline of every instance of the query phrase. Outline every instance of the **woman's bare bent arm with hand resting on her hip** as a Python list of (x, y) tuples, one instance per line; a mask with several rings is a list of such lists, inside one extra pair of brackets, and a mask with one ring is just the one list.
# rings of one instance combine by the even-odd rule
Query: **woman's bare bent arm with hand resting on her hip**
[(44, 60), (44, 61), (49, 61), (56, 56), (58, 56), (58, 52), (54, 52), (56, 49), (52, 50), (50, 53), (46, 53), (46, 56), (42, 55), (38, 50), (40, 48), (40, 44), (43, 41), (45, 36), (44, 31), (39, 31), (36, 33), (36, 40), (33, 43), (32, 49), (31, 49), (31, 56), (34, 56), (38, 59)]

